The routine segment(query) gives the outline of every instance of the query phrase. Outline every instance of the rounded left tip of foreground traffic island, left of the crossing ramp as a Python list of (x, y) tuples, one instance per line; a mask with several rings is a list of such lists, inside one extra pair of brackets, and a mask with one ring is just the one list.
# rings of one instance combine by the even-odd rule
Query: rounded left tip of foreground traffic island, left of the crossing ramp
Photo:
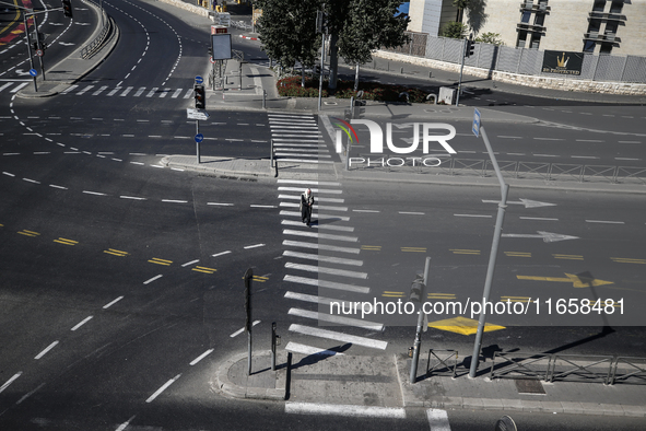
[(251, 374), (248, 374), (247, 353), (235, 354), (220, 365), (211, 387), (231, 398), (284, 400), (287, 398), (287, 352), (277, 352), (275, 362), (275, 371), (272, 371), (270, 351), (254, 353)]

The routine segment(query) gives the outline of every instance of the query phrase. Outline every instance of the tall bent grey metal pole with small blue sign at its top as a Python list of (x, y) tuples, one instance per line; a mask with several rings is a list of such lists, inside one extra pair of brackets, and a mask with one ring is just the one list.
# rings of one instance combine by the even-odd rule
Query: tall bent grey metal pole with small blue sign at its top
[[(484, 280), (484, 290), (482, 292), (482, 303), (485, 304), (489, 302), (489, 295), (491, 293), (491, 284), (493, 281), (493, 275), (495, 272), (495, 265), (496, 258), (498, 254), (498, 244), (501, 242), (501, 236), (503, 234), (503, 222), (505, 221), (505, 210), (507, 209), (507, 195), (509, 194), (509, 185), (505, 183), (503, 178), (503, 174), (498, 166), (498, 162), (493, 153), (491, 148), (491, 143), (489, 142), (489, 138), (486, 136), (486, 130), (484, 127), (480, 125), (480, 113), (475, 109), (478, 115), (473, 116), (473, 128), (475, 129), (475, 125), (478, 123), (478, 131), (482, 135), (482, 140), (484, 141), (484, 145), (486, 147), (486, 152), (491, 159), (491, 163), (493, 164), (493, 168), (496, 173), (498, 178), (498, 183), (501, 184), (501, 201), (498, 203), (498, 212), (496, 215), (496, 224), (493, 234), (493, 241), (491, 244), (491, 253), (489, 255), (489, 266), (486, 267), (486, 277)], [(475, 120), (478, 118), (478, 121)], [(475, 130), (473, 130), (475, 133)], [(484, 313), (484, 305), (480, 313), (480, 317), (478, 319), (478, 331), (475, 333), (475, 342), (473, 343), (473, 354), (471, 356), (471, 366), (469, 368), (469, 377), (475, 378), (475, 372), (478, 371), (478, 364), (480, 362), (480, 348), (482, 347), (482, 333), (484, 331), (484, 321), (485, 321), (485, 313)]]

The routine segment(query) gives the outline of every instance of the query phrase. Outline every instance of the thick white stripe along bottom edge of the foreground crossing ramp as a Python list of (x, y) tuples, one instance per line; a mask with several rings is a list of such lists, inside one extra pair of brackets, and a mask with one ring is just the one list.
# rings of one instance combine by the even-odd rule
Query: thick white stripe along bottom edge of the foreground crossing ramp
[(330, 415), (352, 418), (391, 418), (406, 419), (406, 409), (401, 407), (350, 406), (317, 403), (285, 403), (285, 413), (291, 415)]

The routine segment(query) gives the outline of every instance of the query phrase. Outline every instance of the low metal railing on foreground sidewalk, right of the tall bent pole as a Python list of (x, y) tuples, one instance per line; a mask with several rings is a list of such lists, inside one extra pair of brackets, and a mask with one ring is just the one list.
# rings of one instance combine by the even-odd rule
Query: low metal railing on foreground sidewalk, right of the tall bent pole
[(646, 358), (495, 352), (490, 378), (646, 384)]

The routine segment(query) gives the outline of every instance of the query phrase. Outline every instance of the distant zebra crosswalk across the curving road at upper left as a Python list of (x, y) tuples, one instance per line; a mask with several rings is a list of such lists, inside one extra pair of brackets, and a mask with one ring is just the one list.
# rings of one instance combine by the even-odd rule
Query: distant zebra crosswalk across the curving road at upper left
[[(9, 81), (0, 82), (0, 94), (2, 93), (17, 93), (24, 86), (28, 85), (27, 81)], [(96, 83), (89, 84), (72, 84), (60, 94), (71, 94), (78, 96), (105, 96), (105, 97), (148, 97), (148, 98), (191, 98), (193, 89), (172, 89), (161, 86), (110, 86), (99, 85)]]

